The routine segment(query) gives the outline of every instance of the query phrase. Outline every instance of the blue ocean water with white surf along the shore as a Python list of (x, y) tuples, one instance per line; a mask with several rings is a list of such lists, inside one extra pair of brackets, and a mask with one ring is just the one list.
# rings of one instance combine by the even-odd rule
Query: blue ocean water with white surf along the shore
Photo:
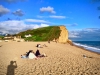
[(74, 45), (100, 53), (100, 41), (73, 41)]

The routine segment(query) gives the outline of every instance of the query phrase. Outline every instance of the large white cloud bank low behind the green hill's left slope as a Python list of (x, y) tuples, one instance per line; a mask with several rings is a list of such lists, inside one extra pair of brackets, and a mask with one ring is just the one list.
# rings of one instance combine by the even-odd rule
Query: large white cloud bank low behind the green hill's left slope
[(39, 27), (46, 27), (49, 26), (48, 24), (26, 24), (24, 20), (17, 21), (17, 20), (11, 20), (11, 21), (2, 21), (0, 22), (0, 33), (5, 34), (15, 34), (24, 30), (28, 29), (36, 29)]

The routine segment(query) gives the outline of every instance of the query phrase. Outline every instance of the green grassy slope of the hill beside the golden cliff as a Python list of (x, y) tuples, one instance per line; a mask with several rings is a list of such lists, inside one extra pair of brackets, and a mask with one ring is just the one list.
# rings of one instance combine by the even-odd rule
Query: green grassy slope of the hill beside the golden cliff
[[(20, 35), (22, 38), (28, 41), (48, 41), (59, 38), (60, 31), (60, 27), (58, 26), (49, 26), (33, 30), (27, 30), (24, 32), (20, 32), (17, 35)], [(25, 38), (25, 35), (28, 34), (31, 34), (32, 37)]]

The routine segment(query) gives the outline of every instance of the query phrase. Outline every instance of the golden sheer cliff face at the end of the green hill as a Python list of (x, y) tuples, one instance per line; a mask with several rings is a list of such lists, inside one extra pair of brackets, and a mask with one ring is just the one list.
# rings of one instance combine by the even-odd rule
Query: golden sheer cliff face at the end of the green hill
[(60, 30), (61, 30), (61, 33), (60, 33), (60, 36), (58, 38), (58, 42), (59, 43), (66, 43), (68, 40), (68, 31), (67, 31), (65, 26), (60, 26)]

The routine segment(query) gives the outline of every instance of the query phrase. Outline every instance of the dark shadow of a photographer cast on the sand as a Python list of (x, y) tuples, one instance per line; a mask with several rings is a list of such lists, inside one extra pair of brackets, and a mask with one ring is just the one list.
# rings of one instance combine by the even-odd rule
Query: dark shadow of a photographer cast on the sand
[(7, 74), (6, 75), (15, 75), (15, 68), (17, 68), (16, 61), (10, 61), (10, 65), (7, 67)]

